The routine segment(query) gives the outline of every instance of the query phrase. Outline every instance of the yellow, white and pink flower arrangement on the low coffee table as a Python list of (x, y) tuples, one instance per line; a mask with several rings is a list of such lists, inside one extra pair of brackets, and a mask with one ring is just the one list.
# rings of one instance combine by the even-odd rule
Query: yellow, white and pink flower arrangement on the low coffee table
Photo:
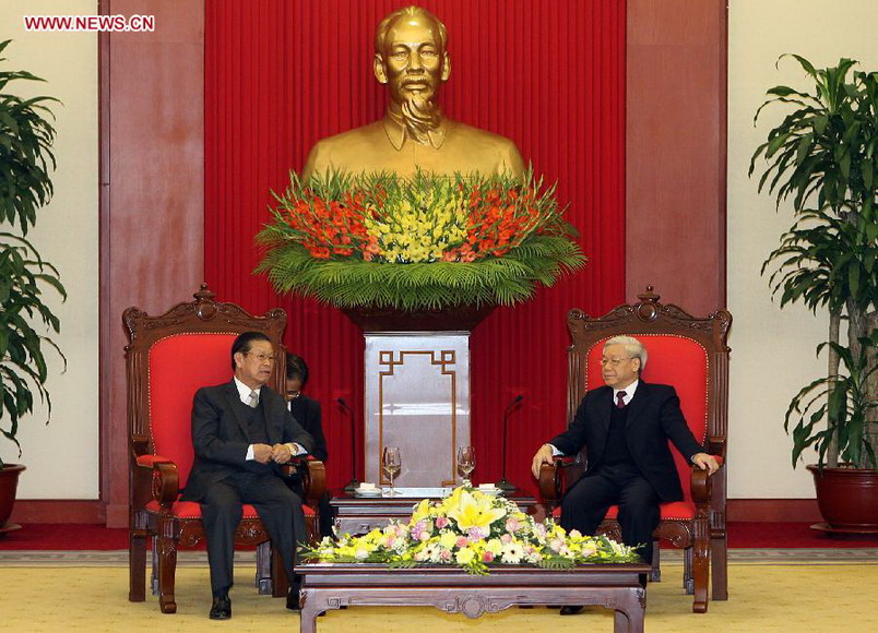
[(439, 501), (419, 502), (407, 524), (391, 521), (364, 536), (325, 537), (306, 546), (302, 558), (391, 568), (454, 564), (471, 574), (487, 574), (491, 564), (570, 569), (639, 560), (633, 548), (604, 536), (567, 533), (551, 518), (536, 523), (514, 502), (463, 486)]

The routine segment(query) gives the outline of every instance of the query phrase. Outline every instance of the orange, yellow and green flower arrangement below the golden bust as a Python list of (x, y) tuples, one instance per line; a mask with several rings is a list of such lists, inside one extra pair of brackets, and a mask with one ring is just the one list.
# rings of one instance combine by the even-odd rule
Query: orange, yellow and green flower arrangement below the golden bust
[(257, 272), (337, 308), (512, 304), (585, 258), (555, 188), (480, 175), (334, 172), (273, 192)]

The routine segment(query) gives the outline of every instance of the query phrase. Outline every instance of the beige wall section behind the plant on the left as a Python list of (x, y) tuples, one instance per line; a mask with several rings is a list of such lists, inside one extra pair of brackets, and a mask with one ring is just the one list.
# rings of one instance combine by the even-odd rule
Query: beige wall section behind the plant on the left
[(95, 14), (96, 0), (5, 0), (0, 4), (4, 69), (27, 70), (46, 83), (14, 82), (22, 96), (50, 95), (63, 101), (54, 108), (58, 138), (55, 198), (38, 214), (28, 232), (39, 253), (55, 264), (68, 290), (60, 304), (47, 290), (61, 320), (56, 337), (68, 358), (66, 373), (51, 350), (48, 389), (52, 417), (45, 408), (22, 422), (23, 453), (0, 441), (3, 459), (27, 470), (19, 483), (20, 499), (97, 499), (98, 497), (98, 206), (97, 206), (97, 35), (95, 33), (28, 33), (23, 15)]

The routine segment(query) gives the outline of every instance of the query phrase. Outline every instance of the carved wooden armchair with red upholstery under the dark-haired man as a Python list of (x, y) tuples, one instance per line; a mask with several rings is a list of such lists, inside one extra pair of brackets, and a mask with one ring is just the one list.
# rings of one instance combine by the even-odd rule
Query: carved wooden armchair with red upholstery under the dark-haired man
[[(129, 600), (145, 599), (146, 540), (152, 539), (152, 590), (164, 613), (174, 613), (174, 583), (178, 547), (204, 539), (201, 505), (179, 501), (194, 458), (191, 438), (192, 398), (205, 385), (230, 380), (230, 349), (247, 331), (264, 332), (277, 350), (271, 386), (283, 393), (284, 348), (281, 343), (286, 313), (272, 310), (252, 316), (233, 303), (214, 301), (206, 285), (195, 300), (180, 303), (161, 316), (129, 308), (122, 316), (129, 337), (128, 433), (130, 446)], [(316, 507), (325, 487), (323, 464), (299, 459), (305, 483), (308, 532), (318, 534)], [(239, 546), (257, 548), (257, 586), (260, 593), (286, 595), (288, 586), (277, 552), (252, 505), (235, 535)]]

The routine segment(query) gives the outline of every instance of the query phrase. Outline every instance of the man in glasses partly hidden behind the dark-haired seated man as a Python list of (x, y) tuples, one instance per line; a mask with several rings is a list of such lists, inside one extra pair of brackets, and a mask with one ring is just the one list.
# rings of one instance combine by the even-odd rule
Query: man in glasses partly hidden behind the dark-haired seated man
[[(286, 398), (287, 408), (296, 421), (308, 431), (315, 439), (315, 445), (311, 449), (311, 455), (315, 458), (325, 462), (329, 453), (327, 452), (327, 439), (323, 435), (323, 423), (321, 421), (322, 414), (320, 411), (320, 403), (313, 398), (305, 395), (302, 390), (308, 383), (308, 365), (305, 359), (295, 354), (286, 355)], [(289, 485), (299, 497), (304, 494), (301, 487), (301, 478), (298, 475), (293, 475), (289, 479)], [(318, 516), (320, 522), (320, 536), (332, 536), (332, 524), (334, 519), (334, 511), (330, 505), (330, 495), (324, 492), (318, 501)]]

